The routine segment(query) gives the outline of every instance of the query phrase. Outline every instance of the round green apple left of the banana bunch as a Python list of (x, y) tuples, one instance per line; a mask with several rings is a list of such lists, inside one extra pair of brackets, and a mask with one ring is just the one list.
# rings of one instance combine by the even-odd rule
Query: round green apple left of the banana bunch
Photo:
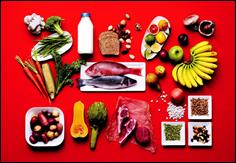
[(170, 50), (168, 51), (168, 54), (171, 61), (179, 62), (182, 60), (184, 56), (184, 51), (180, 46), (176, 45), (170, 48)]

